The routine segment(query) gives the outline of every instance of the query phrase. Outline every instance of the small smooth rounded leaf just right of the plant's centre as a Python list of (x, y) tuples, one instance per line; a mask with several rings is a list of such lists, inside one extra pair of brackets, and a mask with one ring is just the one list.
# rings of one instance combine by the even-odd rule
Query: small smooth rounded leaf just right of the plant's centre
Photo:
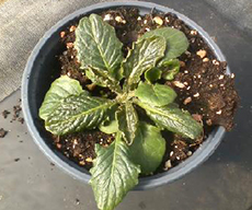
[(172, 103), (176, 93), (164, 84), (148, 84), (140, 83), (135, 92), (135, 95), (142, 102), (152, 106), (164, 106)]

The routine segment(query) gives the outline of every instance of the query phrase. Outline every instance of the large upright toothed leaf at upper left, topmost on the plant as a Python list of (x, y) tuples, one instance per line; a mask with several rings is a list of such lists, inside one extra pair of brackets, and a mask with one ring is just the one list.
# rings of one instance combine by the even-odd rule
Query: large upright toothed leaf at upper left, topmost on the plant
[(76, 30), (75, 48), (81, 68), (106, 70), (111, 77), (119, 80), (122, 46), (114, 27), (104, 22), (100, 15), (91, 14), (80, 20)]

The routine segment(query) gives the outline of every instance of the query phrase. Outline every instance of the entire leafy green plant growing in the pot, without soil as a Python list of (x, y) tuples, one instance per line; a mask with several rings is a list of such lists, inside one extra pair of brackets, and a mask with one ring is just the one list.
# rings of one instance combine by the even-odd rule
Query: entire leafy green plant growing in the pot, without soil
[(108, 147), (96, 144), (90, 180), (98, 207), (114, 209), (149, 175), (165, 152), (161, 130), (190, 139), (203, 128), (174, 103), (176, 93), (161, 81), (172, 80), (180, 69), (176, 59), (188, 42), (171, 27), (145, 33), (124, 58), (123, 44), (113, 26), (91, 14), (80, 20), (75, 48), (83, 73), (96, 85), (108, 88), (114, 98), (93, 96), (77, 80), (61, 75), (53, 82), (39, 109), (45, 128), (64, 136), (90, 129), (114, 133)]

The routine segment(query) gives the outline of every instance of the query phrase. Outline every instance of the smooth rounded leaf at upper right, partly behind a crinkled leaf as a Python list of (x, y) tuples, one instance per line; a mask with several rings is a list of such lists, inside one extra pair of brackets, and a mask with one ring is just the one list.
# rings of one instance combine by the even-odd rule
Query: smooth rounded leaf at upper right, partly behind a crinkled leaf
[(167, 40), (165, 56), (162, 60), (177, 58), (188, 48), (188, 40), (183, 32), (172, 27), (161, 27), (146, 32), (139, 39), (152, 36), (161, 36)]

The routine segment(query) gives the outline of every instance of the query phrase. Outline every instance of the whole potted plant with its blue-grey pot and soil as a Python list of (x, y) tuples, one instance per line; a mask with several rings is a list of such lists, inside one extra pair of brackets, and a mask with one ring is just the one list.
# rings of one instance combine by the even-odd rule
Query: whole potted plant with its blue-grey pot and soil
[(140, 188), (153, 187), (198, 165), (237, 108), (233, 74), (208, 35), (144, 4), (73, 13), (36, 46), (23, 77), (34, 139), (73, 176), (87, 182), (91, 167), (101, 210), (114, 209), (139, 177)]

